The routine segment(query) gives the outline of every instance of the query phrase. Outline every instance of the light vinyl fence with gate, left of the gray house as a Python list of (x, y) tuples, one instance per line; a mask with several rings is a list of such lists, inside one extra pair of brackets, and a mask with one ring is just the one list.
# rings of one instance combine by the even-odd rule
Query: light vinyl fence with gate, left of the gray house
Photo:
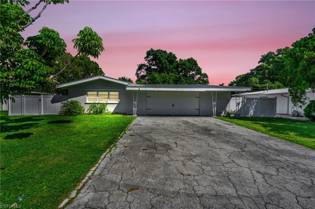
[(8, 115), (47, 115), (58, 114), (61, 102), (67, 95), (19, 95), (10, 96)]

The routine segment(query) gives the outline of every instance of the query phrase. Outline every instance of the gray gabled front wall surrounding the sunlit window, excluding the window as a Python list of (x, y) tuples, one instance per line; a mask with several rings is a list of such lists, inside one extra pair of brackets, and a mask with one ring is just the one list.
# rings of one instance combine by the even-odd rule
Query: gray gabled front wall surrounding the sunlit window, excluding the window
[(119, 113), (133, 113), (132, 91), (127, 91), (124, 84), (108, 80), (95, 80), (71, 86), (68, 88), (68, 100), (77, 100), (85, 109), (88, 109), (93, 102), (86, 102), (87, 91), (119, 91), (119, 102), (109, 102), (107, 105), (108, 110)]

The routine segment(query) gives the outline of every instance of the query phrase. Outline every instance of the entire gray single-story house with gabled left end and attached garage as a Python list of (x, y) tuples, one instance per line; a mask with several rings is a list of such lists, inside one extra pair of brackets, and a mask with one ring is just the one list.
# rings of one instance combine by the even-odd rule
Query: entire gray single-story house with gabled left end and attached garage
[(216, 85), (138, 85), (97, 75), (63, 83), (68, 100), (79, 101), (86, 109), (93, 102), (107, 102), (112, 112), (138, 115), (214, 115), (226, 110), (231, 92), (249, 87)]

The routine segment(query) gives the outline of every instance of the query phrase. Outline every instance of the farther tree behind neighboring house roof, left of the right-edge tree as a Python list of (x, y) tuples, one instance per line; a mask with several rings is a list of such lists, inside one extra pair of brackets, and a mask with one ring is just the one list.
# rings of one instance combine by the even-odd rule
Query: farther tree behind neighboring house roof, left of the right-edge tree
[(249, 73), (238, 75), (235, 80), (229, 83), (229, 86), (248, 86), (253, 91), (262, 91), (267, 89), (284, 88), (278, 76), (281, 70), (285, 68), (283, 56), (289, 51), (289, 47), (278, 49), (275, 52), (268, 52), (261, 56), (259, 65), (249, 70)]

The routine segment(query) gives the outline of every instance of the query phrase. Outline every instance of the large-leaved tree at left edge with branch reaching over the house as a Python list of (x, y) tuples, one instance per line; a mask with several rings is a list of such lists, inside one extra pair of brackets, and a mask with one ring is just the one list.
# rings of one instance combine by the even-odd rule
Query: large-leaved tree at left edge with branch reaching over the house
[[(56, 73), (52, 78), (50, 68), (66, 51), (65, 42), (59, 37), (59, 33), (47, 27), (39, 31), (39, 35), (31, 36), (24, 42), (20, 32), (38, 19), (43, 10), (51, 3), (64, 3), (67, 0), (40, 0), (27, 11), (21, 6), (28, 5), (24, 0), (1, 1), (0, 16), (0, 47), (1, 47), (1, 72), (0, 90), (1, 102), (9, 99), (10, 94), (21, 94), (38, 88), (45, 80), (54, 82), (55, 77), (66, 70), (71, 62)], [(45, 3), (38, 15), (32, 18), (29, 13), (36, 9), (41, 3)], [(98, 58), (104, 50), (102, 39), (91, 28), (85, 27), (80, 30), (78, 38), (73, 39), (74, 47), (78, 50), (75, 57), (79, 55)], [(27, 49), (23, 47), (28, 47)]]

